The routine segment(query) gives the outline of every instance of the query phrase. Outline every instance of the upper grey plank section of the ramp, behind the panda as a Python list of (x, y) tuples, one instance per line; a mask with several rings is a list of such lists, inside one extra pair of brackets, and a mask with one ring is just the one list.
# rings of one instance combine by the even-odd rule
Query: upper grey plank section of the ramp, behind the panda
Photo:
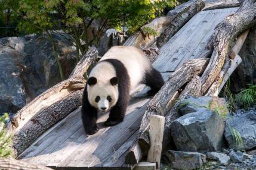
[(175, 71), (189, 59), (199, 58), (214, 28), (238, 8), (198, 12), (160, 49), (154, 66), (161, 72)]

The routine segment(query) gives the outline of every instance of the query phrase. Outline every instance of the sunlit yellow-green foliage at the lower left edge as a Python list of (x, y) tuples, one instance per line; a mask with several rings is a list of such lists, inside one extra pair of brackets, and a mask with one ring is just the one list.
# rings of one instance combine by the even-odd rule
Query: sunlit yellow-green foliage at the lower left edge
[(0, 158), (7, 158), (12, 155), (10, 148), (11, 136), (6, 136), (6, 130), (4, 128), (4, 121), (8, 118), (8, 114), (4, 114), (0, 117)]

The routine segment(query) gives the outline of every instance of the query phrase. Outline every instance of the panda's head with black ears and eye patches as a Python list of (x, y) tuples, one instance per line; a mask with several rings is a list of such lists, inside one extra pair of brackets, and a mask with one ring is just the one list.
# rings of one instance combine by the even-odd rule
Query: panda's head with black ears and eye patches
[(107, 81), (98, 81), (95, 77), (87, 80), (88, 100), (94, 108), (107, 112), (118, 101), (118, 78), (112, 77)]

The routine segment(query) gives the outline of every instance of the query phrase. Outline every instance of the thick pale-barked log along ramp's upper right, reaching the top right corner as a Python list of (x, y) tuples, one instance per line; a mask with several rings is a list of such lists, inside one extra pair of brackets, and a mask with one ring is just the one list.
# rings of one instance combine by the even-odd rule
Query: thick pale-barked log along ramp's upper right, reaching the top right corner
[(239, 10), (226, 17), (215, 28), (214, 34), (208, 42), (213, 48), (209, 64), (202, 75), (201, 94), (205, 94), (214, 80), (220, 75), (224, 61), (232, 48), (236, 37), (256, 24), (255, 0), (245, 0)]

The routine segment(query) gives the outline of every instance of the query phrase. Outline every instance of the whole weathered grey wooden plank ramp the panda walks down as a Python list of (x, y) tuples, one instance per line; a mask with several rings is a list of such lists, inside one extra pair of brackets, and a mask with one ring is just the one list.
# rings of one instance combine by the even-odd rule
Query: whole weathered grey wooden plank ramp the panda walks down
[[(238, 8), (202, 11), (196, 14), (160, 50), (154, 62), (165, 80), (188, 59), (199, 58), (214, 27)], [(140, 127), (149, 98), (132, 99), (124, 122), (103, 127), (108, 115), (99, 116), (98, 133), (87, 136), (80, 108), (72, 112), (36, 140), (20, 159), (55, 169), (132, 169), (124, 163), (129, 146)]]

